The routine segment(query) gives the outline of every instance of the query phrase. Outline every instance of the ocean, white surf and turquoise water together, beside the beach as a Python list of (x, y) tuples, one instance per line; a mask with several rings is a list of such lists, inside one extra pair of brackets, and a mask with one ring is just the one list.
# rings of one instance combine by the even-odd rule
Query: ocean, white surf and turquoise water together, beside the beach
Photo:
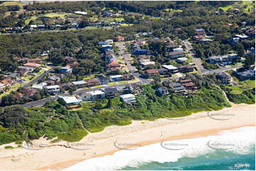
[(255, 127), (122, 150), (65, 170), (255, 170)]

